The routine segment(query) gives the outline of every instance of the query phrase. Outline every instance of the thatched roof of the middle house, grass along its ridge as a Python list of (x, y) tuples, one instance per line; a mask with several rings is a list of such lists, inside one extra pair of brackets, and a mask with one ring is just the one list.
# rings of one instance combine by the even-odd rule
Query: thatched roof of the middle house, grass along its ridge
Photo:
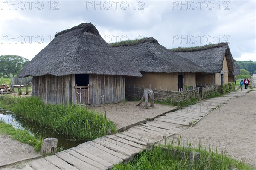
[(170, 52), (154, 38), (115, 43), (112, 46), (122, 53), (124, 58), (134, 63), (141, 72), (205, 73), (202, 67)]

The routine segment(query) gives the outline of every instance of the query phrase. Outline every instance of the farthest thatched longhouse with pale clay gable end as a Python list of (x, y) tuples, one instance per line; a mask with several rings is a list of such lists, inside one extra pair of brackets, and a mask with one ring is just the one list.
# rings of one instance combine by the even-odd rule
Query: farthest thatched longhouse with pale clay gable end
[(197, 84), (226, 84), (228, 75), (234, 73), (233, 58), (227, 43), (177, 48), (171, 51), (204, 68), (207, 75), (197, 75)]

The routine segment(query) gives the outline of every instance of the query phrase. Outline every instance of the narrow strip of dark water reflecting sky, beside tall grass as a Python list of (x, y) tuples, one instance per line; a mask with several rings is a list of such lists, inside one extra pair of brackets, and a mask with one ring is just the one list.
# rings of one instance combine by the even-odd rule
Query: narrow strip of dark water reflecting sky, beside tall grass
[(15, 129), (27, 130), (32, 135), (39, 135), (42, 138), (54, 137), (58, 139), (58, 147), (68, 149), (76, 147), (77, 145), (84, 143), (85, 141), (77, 141), (72, 138), (68, 138), (65, 135), (59, 134), (58, 132), (47, 128), (40, 127), (35, 122), (27, 121), (24, 117), (16, 115), (12, 112), (3, 110), (0, 108), (0, 120), (7, 124), (11, 124)]

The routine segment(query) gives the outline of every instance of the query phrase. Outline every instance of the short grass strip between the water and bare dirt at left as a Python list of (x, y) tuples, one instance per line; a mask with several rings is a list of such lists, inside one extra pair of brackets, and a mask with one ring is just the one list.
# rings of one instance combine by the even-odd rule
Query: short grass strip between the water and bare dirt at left
[[(1, 134), (11, 135), (12, 139), (34, 146), (36, 151), (41, 150), (42, 138), (31, 135), (27, 130), (19, 130), (19, 129), (15, 130), (15, 128), (12, 127), (12, 125), (6, 124), (1, 120), (0, 120), (0, 129), (1, 129)], [(2, 142), (4, 142), (3, 139), (2, 139)]]

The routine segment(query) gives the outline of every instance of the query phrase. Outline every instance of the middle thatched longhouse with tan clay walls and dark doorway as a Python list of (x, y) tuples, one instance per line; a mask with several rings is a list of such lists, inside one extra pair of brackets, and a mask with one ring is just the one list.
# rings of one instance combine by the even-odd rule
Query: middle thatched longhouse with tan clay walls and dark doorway
[(141, 78), (125, 78), (126, 86), (177, 91), (184, 85), (195, 86), (195, 73), (206, 74), (201, 66), (170, 52), (154, 38), (112, 44), (125, 59), (142, 73)]

